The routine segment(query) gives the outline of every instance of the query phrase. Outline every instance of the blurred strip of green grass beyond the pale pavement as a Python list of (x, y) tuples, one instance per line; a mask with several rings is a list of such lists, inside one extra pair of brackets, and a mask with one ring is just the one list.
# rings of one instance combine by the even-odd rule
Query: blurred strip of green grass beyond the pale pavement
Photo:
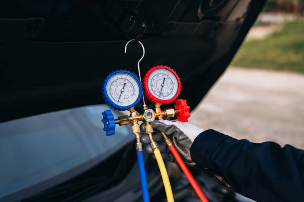
[(245, 41), (231, 65), (304, 73), (304, 21), (287, 22), (265, 39)]

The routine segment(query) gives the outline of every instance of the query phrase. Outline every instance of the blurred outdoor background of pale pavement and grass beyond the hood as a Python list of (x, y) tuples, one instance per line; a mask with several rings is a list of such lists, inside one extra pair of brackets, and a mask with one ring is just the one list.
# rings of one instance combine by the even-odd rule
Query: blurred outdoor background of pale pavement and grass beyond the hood
[(190, 123), (304, 149), (304, 0), (268, 0)]

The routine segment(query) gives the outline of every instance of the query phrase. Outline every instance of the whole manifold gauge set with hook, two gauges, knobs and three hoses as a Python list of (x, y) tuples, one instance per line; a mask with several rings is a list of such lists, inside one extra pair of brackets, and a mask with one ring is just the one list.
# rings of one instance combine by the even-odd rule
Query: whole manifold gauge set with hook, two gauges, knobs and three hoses
[[(129, 42), (125, 47), (125, 52)], [(144, 46), (140, 41), (138, 43), (140, 43), (142, 46), (145, 54)], [(144, 55), (141, 59), (143, 59), (143, 57)], [(151, 147), (156, 157), (156, 161), (163, 180), (167, 201), (174, 202), (170, 181), (163, 159), (156, 142), (153, 140), (153, 127), (150, 122), (154, 121), (155, 119), (169, 119), (174, 116), (178, 121), (186, 122), (190, 117), (190, 107), (187, 105), (186, 100), (177, 99), (181, 90), (181, 82), (178, 75), (173, 69), (165, 65), (154, 66), (145, 74), (142, 81), (139, 66), (140, 61), (138, 62), (139, 77), (128, 70), (117, 70), (110, 73), (105, 79), (102, 85), (102, 95), (104, 101), (115, 110), (130, 111), (130, 115), (119, 116), (117, 119), (115, 119), (111, 110), (103, 111), (103, 130), (106, 132), (106, 136), (114, 135), (116, 124), (120, 126), (128, 125), (130, 123), (132, 124), (132, 133), (136, 136), (135, 148), (138, 158), (143, 201), (150, 202), (143, 158), (143, 147), (140, 139), (141, 130), (138, 124), (139, 121), (144, 121), (146, 133), (149, 135)], [(149, 109), (147, 107), (145, 103), (145, 97), (154, 103), (153, 109)], [(134, 106), (138, 104), (142, 99), (144, 104), (143, 113), (141, 114), (135, 110)], [(174, 108), (161, 109), (162, 104), (169, 104), (173, 101), (175, 101)], [(206, 197), (195, 182), (188, 168), (185, 166), (171, 140), (163, 132), (161, 132), (161, 134), (166, 145), (169, 147), (170, 151), (176, 158), (178, 164), (193, 186), (195, 192), (198, 194), (198, 197), (201, 199), (201, 201), (207, 202)]]

